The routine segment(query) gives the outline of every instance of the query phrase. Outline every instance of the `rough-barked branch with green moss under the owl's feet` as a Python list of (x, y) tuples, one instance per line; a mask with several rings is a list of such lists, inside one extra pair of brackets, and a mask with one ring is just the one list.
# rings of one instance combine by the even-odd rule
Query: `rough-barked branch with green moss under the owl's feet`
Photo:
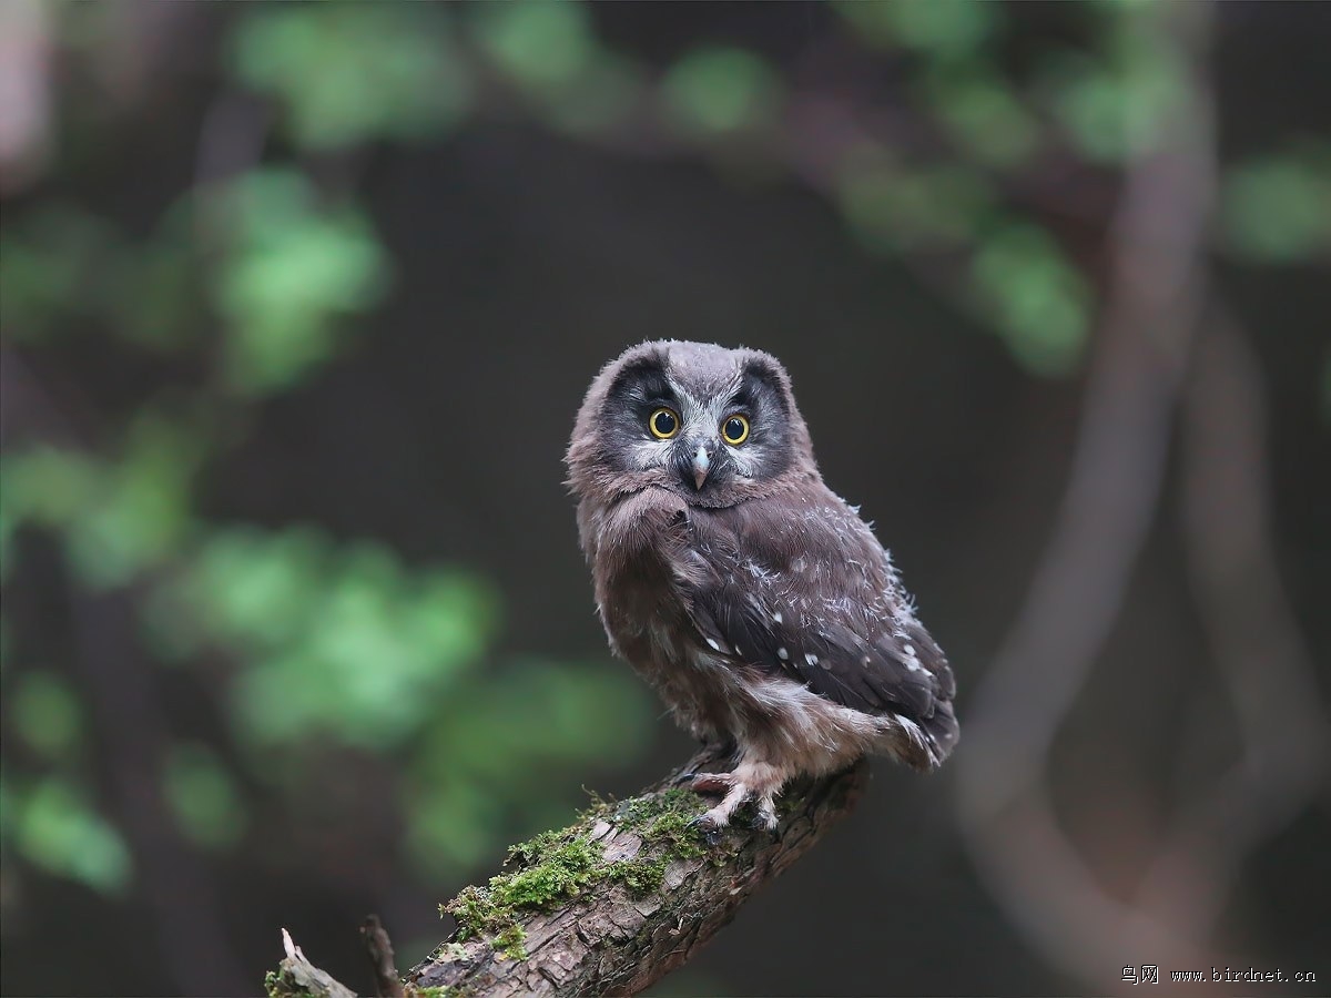
[[(749, 829), (741, 810), (737, 826), (707, 842), (689, 824), (707, 804), (677, 785), (704, 760), (630, 800), (598, 801), (576, 824), (514, 846), (488, 885), (442, 905), (458, 926), (406, 973), (405, 993), (636, 994), (685, 963), (755, 890), (845, 817), (868, 774), (861, 762), (792, 784), (776, 833)], [(291, 987), (297, 967), (289, 963), (290, 951), (270, 974), (286, 985), (281, 994), (329, 994)], [(298, 969), (302, 977), (315, 970), (307, 961)]]

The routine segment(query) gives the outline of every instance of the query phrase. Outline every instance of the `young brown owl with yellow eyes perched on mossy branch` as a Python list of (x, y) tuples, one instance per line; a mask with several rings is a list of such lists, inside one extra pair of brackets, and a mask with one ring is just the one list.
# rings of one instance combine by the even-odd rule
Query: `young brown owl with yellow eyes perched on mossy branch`
[(729, 765), (705, 832), (866, 753), (928, 770), (956, 683), (888, 552), (813, 460), (775, 357), (640, 343), (592, 381), (566, 455), (611, 649)]

